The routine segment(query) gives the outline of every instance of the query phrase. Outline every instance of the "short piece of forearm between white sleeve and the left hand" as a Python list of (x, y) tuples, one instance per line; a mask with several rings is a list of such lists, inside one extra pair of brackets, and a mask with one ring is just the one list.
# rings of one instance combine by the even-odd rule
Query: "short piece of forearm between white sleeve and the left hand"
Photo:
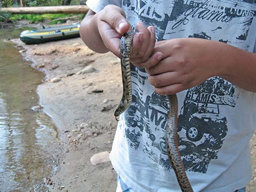
[(104, 45), (98, 27), (97, 27), (97, 14), (92, 10), (88, 11), (86, 17), (84, 17), (81, 27), (80, 36), (83, 42), (93, 51), (97, 53), (106, 53), (108, 48)]

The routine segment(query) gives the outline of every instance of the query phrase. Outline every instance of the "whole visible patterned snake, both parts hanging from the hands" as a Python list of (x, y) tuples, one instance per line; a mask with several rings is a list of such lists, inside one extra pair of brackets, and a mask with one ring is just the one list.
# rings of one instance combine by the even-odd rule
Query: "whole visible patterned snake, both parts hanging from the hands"
[[(123, 96), (118, 108), (114, 112), (117, 117), (129, 108), (132, 102), (132, 83), (130, 55), (132, 52), (132, 40), (134, 33), (127, 32), (121, 37), (120, 54), (121, 54), (121, 72), (123, 80)], [(190, 182), (188, 181), (186, 171), (180, 156), (178, 147), (178, 99), (176, 94), (168, 96), (170, 109), (168, 114), (168, 125), (166, 128), (166, 147), (170, 163), (173, 166), (176, 178), (182, 192), (193, 192)]]

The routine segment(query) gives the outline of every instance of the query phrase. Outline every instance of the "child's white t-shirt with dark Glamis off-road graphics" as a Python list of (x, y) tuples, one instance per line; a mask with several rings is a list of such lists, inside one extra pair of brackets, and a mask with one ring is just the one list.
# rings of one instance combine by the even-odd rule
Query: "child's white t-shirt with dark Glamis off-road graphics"
[[(87, 1), (95, 12), (121, 7), (132, 28), (155, 26), (157, 41), (202, 38), (256, 50), (256, 1)], [(216, 55), (218, 57), (218, 55)], [(169, 103), (144, 69), (132, 66), (132, 104), (121, 115), (111, 152), (114, 169), (138, 192), (181, 191), (166, 151)], [(249, 140), (256, 126), (256, 94), (221, 77), (178, 94), (179, 150), (194, 191), (231, 192), (251, 179)]]

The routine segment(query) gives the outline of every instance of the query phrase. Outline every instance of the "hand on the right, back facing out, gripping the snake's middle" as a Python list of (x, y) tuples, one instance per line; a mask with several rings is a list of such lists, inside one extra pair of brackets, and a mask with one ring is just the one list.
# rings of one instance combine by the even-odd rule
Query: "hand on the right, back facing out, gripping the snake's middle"
[[(217, 41), (184, 38), (157, 42), (154, 53), (162, 59), (154, 65), (149, 59), (149, 83), (161, 95), (186, 90), (223, 72), (221, 63), (225, 44)], [(161, 55), (160, 54), (160, 55)]]

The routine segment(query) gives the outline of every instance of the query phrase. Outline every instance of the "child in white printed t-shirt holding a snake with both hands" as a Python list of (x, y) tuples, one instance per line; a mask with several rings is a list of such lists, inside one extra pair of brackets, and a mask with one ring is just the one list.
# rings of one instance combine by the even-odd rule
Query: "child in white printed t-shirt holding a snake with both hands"
[(132, 104), (110, 156), (117, 191), (181, 191), (164, 139), (171, 94), (178, 95), (179, 149), (193, 190), (245, 191), (256, 126), (256, 1), (87, 5), (81, 38), (94, 51), (120, 57), (121, 35), (136, 31)]

